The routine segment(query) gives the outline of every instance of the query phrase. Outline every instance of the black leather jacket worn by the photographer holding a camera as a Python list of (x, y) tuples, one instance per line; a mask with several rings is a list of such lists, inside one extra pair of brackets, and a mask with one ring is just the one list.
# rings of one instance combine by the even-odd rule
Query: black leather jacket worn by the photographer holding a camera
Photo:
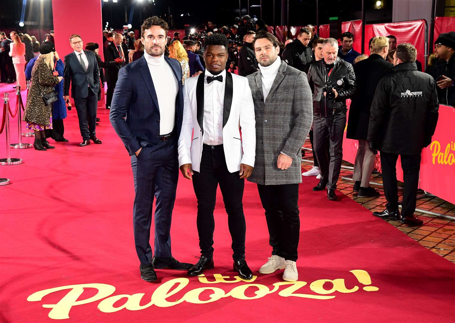
[[(337, 98), (333, 101), (326, 100), (322, 90), (325, 83), (329, 81), (333, 88), (337, 88), (338, 80), (343, 80), (344, 85), (337, 90)], [(327, 73), (324, 60), (313, 62), (308, 70), (308, 83), (313, 91), (313, 114), (321, 117), (329, 117), (342, 111), (346, 112), (346, 99), (350, 99), (357, 90), (352, 65), (339, 57), (335, 60), (330, 76)]]

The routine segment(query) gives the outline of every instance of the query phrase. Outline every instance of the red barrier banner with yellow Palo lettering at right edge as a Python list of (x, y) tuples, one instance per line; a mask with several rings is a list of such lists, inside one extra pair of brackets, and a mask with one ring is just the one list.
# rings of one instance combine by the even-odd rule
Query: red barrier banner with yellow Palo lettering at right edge
[(420, 188), (455, 204), (455, 109), (439, 106), (439, 119), (430, 146), (422, 150)]

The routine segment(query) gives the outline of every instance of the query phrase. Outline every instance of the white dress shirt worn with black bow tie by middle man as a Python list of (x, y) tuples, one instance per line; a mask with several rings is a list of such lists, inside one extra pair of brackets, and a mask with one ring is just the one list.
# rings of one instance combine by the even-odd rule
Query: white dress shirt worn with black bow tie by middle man
[[(207, 76), (222, 75), (222, 82), (214, 80), (207, 84)], [(204, 144), (216, 146), (223, 143), (223, 104), (226, 86), (226, 70), (213, 75), (205, 70), (204, 75)]]

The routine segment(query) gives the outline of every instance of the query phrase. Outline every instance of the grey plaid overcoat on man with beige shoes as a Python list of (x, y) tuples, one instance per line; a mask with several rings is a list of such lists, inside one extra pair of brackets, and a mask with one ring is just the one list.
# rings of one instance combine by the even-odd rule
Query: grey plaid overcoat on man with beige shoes
[[(307, 75), (282, 61), (265, 99), (261, 71), (248, 75), (256, 118), (256, 159), (249, 181), (263, 185), (302, 183), (302, 145), (313, 124), (313, 96)], [(292, 165), (277, 167), (280, 153)]]

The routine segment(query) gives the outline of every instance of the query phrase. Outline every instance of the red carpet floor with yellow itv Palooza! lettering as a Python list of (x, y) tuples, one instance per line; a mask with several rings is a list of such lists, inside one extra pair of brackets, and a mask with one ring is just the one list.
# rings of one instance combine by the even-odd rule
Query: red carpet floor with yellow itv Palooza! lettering
[[(454, 265), (351, 199), (327, 201), (324, 193), (311, 190), (314, 177), (305, 178), (300, 190), (298, 283), (284, 283), (282, 270), (257, 273), (270, 247), (257, 189), (249, 182), (243, 200), (247, 260), (258, 275), (254, 282), (233, 278), (221, 195), (215, 210), (216, 268), (199, 278), (202, 282), (165, 270), (157, 270), (157, 283), (142, 281), (132, 234), (130, 160), (106, 110), (100, 109), (99, 117), (101, 145), (77, 145), (73, 109), (65, 120), (69, 143), (45, 152), (12, 149), (12, 157), (24, 164), (0, 166), (0, 177), (11, 179), (0, 187), (1, 322), (455, 321)], [(12, 142), (16, 123), (11, 122)], [(0, 156), (5, 157), (5, 134)], [(185, 262), (195, 262), (199, 254), (196, 200), (182, 177), (172, 250)]]

